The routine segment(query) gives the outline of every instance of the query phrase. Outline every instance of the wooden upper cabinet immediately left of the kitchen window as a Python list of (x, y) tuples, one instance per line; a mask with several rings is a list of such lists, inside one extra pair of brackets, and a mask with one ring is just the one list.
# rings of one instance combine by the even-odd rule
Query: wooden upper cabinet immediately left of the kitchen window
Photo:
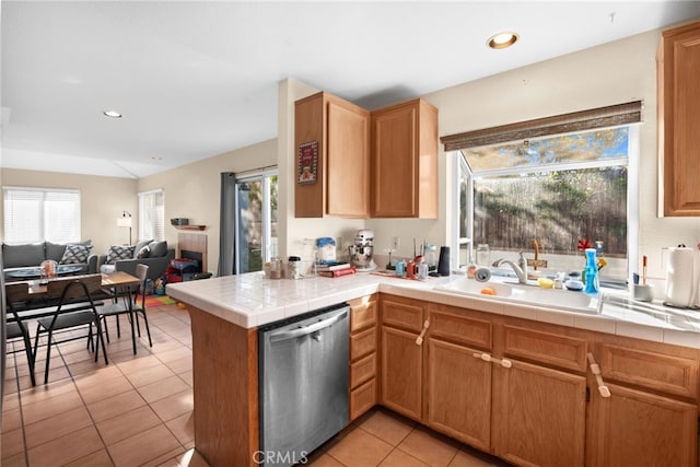
[(373, 218), (438, 218), (438, 109), (423, 100), (372, 112)]

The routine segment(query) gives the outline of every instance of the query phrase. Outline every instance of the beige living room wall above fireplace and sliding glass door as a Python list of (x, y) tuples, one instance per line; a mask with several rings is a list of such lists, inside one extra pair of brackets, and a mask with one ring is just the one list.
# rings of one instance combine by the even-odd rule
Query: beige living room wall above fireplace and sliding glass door
[[(177, 245), (179, 232), (207, 235), (208, 269), (217, 272), (221, 173), (241, 173), (276, 164), (277, 140), (269, 140), (140, 178), (138, 191), (165, 190), (165, 240), (168, 245)], [(188, 218), (190, 224), (206, 225), (207, 229), (201, 232), (178, 231), (171, 225), (172, 218)]]

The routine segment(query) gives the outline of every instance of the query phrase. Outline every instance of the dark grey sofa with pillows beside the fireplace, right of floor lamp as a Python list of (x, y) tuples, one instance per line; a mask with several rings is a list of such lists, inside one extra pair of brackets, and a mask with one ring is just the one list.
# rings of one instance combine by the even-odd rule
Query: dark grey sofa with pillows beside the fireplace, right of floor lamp
[(149, 267), (148, 278), (155, 281), (163, 277), (175, 258), (175, 249), (167, 242), (143, 241), (136, 245), (112, 245), (107, 253), (97, 257), (100, 272), (124, 271), (136, 276), (136, 265)]

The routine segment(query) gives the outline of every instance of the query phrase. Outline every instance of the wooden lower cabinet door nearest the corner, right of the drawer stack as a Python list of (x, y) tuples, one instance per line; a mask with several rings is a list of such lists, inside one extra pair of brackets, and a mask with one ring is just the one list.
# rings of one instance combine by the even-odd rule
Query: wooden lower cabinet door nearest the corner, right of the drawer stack
[(422, 346), (416, 334), (382, 326), (381, 402), (408, 418), (421, 420)]

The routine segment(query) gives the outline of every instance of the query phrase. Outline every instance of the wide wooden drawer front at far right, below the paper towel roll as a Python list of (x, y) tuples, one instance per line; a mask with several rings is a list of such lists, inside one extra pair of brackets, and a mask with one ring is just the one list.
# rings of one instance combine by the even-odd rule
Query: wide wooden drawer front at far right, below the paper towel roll
[(605, 380), (629, 383), (692, 399), (698, 397), (698, 362), (696, 360), (603, 345), (599, 363)]

